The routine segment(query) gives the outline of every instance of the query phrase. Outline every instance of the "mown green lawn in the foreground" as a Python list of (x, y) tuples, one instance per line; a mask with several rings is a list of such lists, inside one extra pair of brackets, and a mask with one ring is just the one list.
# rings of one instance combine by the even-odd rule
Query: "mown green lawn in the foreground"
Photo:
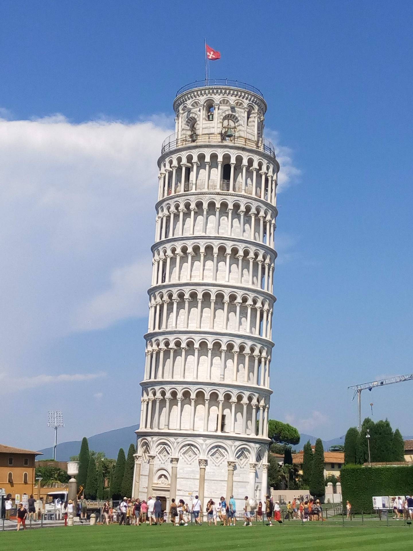
[(219, 551), (232, 549), (276, 549), (277, 551), (407, 551), (412, 548), (413, 530), (387, 526), (322, 526), (290, 523), (269, 528), (182, 526), (76, 526), (42, 528), (26, 532), (0, 532), (0, 547), (13, 551)]

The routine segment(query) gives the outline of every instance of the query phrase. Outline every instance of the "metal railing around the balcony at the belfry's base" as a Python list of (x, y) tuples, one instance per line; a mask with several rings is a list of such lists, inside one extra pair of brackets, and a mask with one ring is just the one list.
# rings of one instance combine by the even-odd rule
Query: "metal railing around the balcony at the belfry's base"
[(162, 143), (161, 155), (168, 153), (173, 149), (184, 147), (186, 145), (203, 145), (203, 144), (217, 144), (217, 143), (233, 143), (234, 145), (239, 145), (243, 147), (248, 147), (251, 149), (259, 149), (260, 151), (267, 153), (275, 159), (275, 149), (274, 145), (266, 139), (259, 139), (258, 141), (247, 138), (244, 136), (232, 136), (231, 138), (225, 136), (224, 133), (208, 133), (208, 134), (188, 134), (180, 138), (177, 137), (176, 133), (168, 136), (164, 143)]

